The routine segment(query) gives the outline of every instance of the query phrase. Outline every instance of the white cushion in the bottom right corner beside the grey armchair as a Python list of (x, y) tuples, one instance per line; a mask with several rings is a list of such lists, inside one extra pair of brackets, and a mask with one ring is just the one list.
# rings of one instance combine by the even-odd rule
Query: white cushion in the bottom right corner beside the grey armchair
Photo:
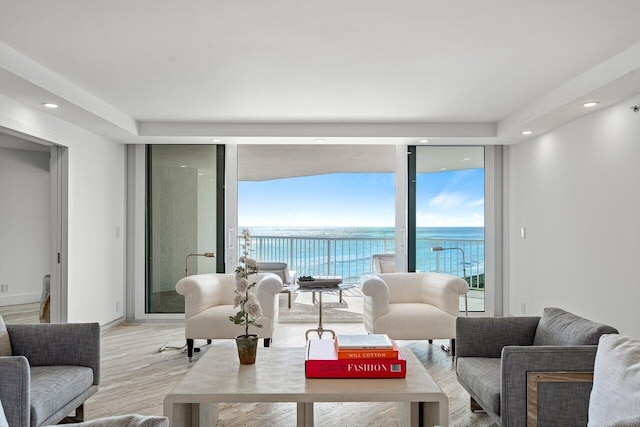
[(603, 335), (593, 368), (588, 425), (617, 425), (633, 418), (640, 425), (640, 341)]

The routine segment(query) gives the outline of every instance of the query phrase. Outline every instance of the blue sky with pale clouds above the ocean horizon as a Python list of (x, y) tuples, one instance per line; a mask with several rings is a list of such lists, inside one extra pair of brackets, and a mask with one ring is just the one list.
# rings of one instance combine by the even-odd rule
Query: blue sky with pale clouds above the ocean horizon
[[(482, 169), (419, 174), (418, 227), (484, 226)], [(238, 224), (393, 227), (395, 175), (340, 173), (238, 183)]]

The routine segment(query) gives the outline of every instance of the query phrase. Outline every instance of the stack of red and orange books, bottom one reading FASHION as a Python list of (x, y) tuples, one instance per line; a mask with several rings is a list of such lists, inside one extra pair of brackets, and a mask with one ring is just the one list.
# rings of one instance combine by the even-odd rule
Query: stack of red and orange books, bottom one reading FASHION
[(404, 378), (407, 361), (386, 334), (336, 335), (309, 340), (307, 378)]

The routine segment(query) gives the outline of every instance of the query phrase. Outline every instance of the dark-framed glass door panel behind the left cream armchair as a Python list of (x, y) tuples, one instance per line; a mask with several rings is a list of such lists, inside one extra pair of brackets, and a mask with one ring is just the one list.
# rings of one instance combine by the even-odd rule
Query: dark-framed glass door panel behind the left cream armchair
[(223, 146), (147, 147), (147, 313), (183, 313), (178, 280), (224, 271), (223, 191)]

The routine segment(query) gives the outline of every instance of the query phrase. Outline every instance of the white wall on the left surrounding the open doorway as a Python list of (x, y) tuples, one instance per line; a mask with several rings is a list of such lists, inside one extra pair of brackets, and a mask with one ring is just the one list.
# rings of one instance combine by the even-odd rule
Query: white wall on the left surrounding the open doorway
[(125, 146), (2, 95), (0, 126), (68, 147), (68, 321), (122, 317)]

